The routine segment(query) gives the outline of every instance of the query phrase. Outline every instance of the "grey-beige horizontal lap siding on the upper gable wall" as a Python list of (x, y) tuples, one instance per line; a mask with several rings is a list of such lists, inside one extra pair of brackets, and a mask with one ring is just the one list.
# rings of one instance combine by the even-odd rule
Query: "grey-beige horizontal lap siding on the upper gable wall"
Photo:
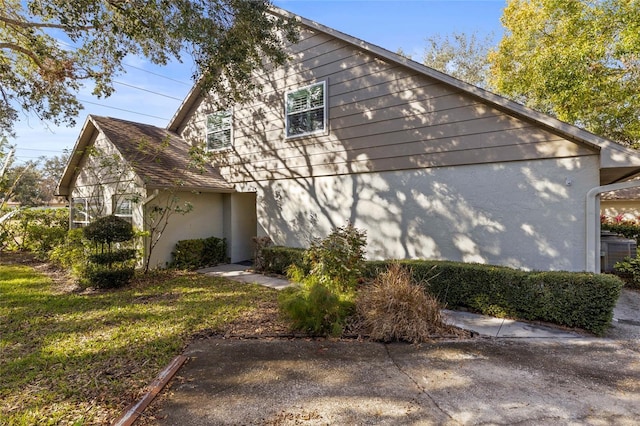
[[(234, 108), (233, 150), (216, 156), (231, 182), (593, 154), (328, 35), (303, 33), (293, 51), (288, 65), (257, 75), (254, 102)], [(286, 139), (285, 92), (324, 80), (328, 134)], [(210, 111), (199, 106), (192, 135), (204, 138)]]

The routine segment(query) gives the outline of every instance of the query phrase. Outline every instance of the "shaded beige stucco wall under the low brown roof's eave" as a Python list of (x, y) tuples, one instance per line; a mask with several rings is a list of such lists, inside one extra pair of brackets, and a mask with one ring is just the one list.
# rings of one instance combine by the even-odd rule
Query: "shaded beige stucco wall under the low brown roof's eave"
[(147, 204), (147, 211), (154, 204), (166, 206), (174, 196), (178, 204), (184, 206), (190, 203), (193, 209), (184, 215), (176, 213), (169, 218), (162, 238), (153, 249), (149, 261), (151, 268), (165, 267), (171, 261), (171, 252), (179, 240), (224, 237), (222, 194), (161, 191)]

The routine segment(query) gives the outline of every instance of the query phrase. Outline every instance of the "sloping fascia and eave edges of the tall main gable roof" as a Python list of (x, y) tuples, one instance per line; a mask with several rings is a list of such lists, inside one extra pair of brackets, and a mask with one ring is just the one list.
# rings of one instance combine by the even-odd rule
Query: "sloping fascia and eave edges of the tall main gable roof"
[[(468, 96), (476, 98), (485, 104), (489, 104), (506, 114), (532, 122), (535, 125), (549, 130), (552, 133), (558, 134), (559, 136), (571, 140), (574, 143), (585, 145), (594, 151), (599, 152), (602, 184), (626, 180), (640, 173), (640, 155), (638, 155), (638, 152), (633, 149), (525, 107), (524, 105), (511, 101), (488, 90), (465, 83), (450, 75), (444, 74), (433, 68), (429, 68), (387, 49), (367, 43), (356, 37), (295, 15), (286, 10), (272, 7), (272, 13), (281, 17), (295, 19), (302, 27), (315, 32), (327, 34), (385, 61), (402, 65), (408, 69), (418, 72), (419, 74), (438, 80), (439, 82), (457, 89)], [(167, 129), (170, 131), (178, 131), (181, 124), (188, 117), (192, 107), (199, 99), (202, 98), (202, 96), (202, 87), (197, 82), (172, 117), (171, 121), (167, 125)]]

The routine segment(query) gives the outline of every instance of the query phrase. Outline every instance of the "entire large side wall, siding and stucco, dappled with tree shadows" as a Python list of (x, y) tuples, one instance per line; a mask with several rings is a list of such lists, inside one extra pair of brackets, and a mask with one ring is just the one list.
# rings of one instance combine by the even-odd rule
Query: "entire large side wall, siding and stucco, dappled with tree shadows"
[[(257, 192), (276, 244), (307, 246), (350, 220), (371, 258), (584, 268), (593, 151), (326, 35), (303, 33), (292, 49), (234, 109), (233, 150), (216, 159)], [(315, 81), (327, 82), (329, 129), (287, 139), (284, 94)], [(187, 139), (203, 134), (196, 117)]]

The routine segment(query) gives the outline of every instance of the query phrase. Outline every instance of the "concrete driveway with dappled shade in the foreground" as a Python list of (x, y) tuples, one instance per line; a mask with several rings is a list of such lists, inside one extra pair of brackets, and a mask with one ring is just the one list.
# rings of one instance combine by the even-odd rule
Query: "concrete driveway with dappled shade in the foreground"
[(143, 414), (157, 425), (638, 425), (640, 294), (606, 338), (205, 339)]

